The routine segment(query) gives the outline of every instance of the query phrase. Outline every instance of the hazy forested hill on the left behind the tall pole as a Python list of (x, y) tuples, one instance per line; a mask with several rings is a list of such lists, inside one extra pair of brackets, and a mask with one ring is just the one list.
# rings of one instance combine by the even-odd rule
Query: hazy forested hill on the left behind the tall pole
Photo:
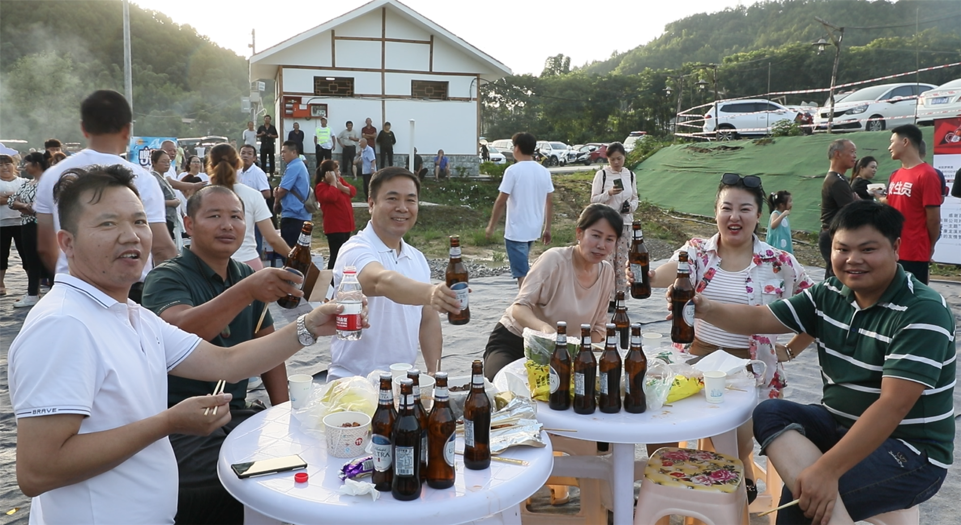
[[(137, 135), (234, 135), (243, 128), (243, 57), (165, 14), (131, 4), (130, 18)], [(98, 88), (123, 92), (122, 3), (4, 1), (0, 57), (0, 137), (35, 147), (45, 137), (83, 141), (77, 122), (84, 96)]]

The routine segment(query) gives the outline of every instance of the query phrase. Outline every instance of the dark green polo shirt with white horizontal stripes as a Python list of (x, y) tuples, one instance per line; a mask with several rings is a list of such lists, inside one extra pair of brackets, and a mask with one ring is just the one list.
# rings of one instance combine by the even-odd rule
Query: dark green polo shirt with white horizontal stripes
[(866, 309), (835, 277), (768, 308), (786, 327), (816, 338), (822, 402), (842, 426), (850, 428), (875, 403), (883, 377), (924, 385), (891, 437), (949, 467), (956, 350), (954, 315), (941, 294), (899, 265), (891, 285)]

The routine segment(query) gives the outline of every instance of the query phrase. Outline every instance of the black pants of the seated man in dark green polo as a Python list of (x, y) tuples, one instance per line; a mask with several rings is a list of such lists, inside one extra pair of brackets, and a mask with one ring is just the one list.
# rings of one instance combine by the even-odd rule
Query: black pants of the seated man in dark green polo
[(231, 421), (209, 436), (170, 435), (180, 478), (175, 523), (243, 523), (243, 505), (217, 479), (217, 456), (224, 439), (257, 412), (232, 410)]

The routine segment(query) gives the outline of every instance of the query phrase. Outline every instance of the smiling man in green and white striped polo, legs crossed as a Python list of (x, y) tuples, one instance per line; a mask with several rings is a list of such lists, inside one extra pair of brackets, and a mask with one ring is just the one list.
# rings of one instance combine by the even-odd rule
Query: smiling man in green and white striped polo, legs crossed
[(767, 307), (695, 298), (697, 315), (728, 332), (815, 338), (822, 405), (771, 399), (753, 414), (761, 451), (784, 480), (780, 503), (801, 500), (778, 524), (852, 523), (918, 505), (944, 482), (954, 315), (898, 264), (903, 222), (890, 206), (855, 201), (831, 222), (836, 277)]

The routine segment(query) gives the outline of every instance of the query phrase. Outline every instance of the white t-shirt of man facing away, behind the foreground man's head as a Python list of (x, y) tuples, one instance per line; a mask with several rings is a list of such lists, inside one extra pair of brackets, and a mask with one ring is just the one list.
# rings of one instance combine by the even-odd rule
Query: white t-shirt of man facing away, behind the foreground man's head
[[(143, 203), (143, 210), (147, 213), (147, 222), (160, 223), (166, 228), (167, 218), (166, 209), (163, 205), (163, 192), (160, 191), (160, 183), (154, 176), (143, 167), (127, 162), (118, 155), (112, 153), (101, 153), (92, 149), (85, 149), (77, 152), (56, 165), (50, 166), (43, 172), (40, 182), (37, 183), (37, 202), (34, 203), (34, 210), (37, 213), (50, 213), (54, 217), (54, 231), (60, 231), (60, 216), (57, 213), (57, 205), (54, 203), (54, 186), (60, 181), (64, 171), (74, 167), (86, 167), (94, 164), (123, 164), (134, 172), (134, 186), (140, 193), (140, 201)], [(140, 280), (147, 276), (150, 269), (154, 266), (153, 261), (148, 259), (143, 266), (143, 274)], [(66, 263), (66, 256), (63, 252), (57, 259), (57, 273), (68, 273), (69, 266)]]

